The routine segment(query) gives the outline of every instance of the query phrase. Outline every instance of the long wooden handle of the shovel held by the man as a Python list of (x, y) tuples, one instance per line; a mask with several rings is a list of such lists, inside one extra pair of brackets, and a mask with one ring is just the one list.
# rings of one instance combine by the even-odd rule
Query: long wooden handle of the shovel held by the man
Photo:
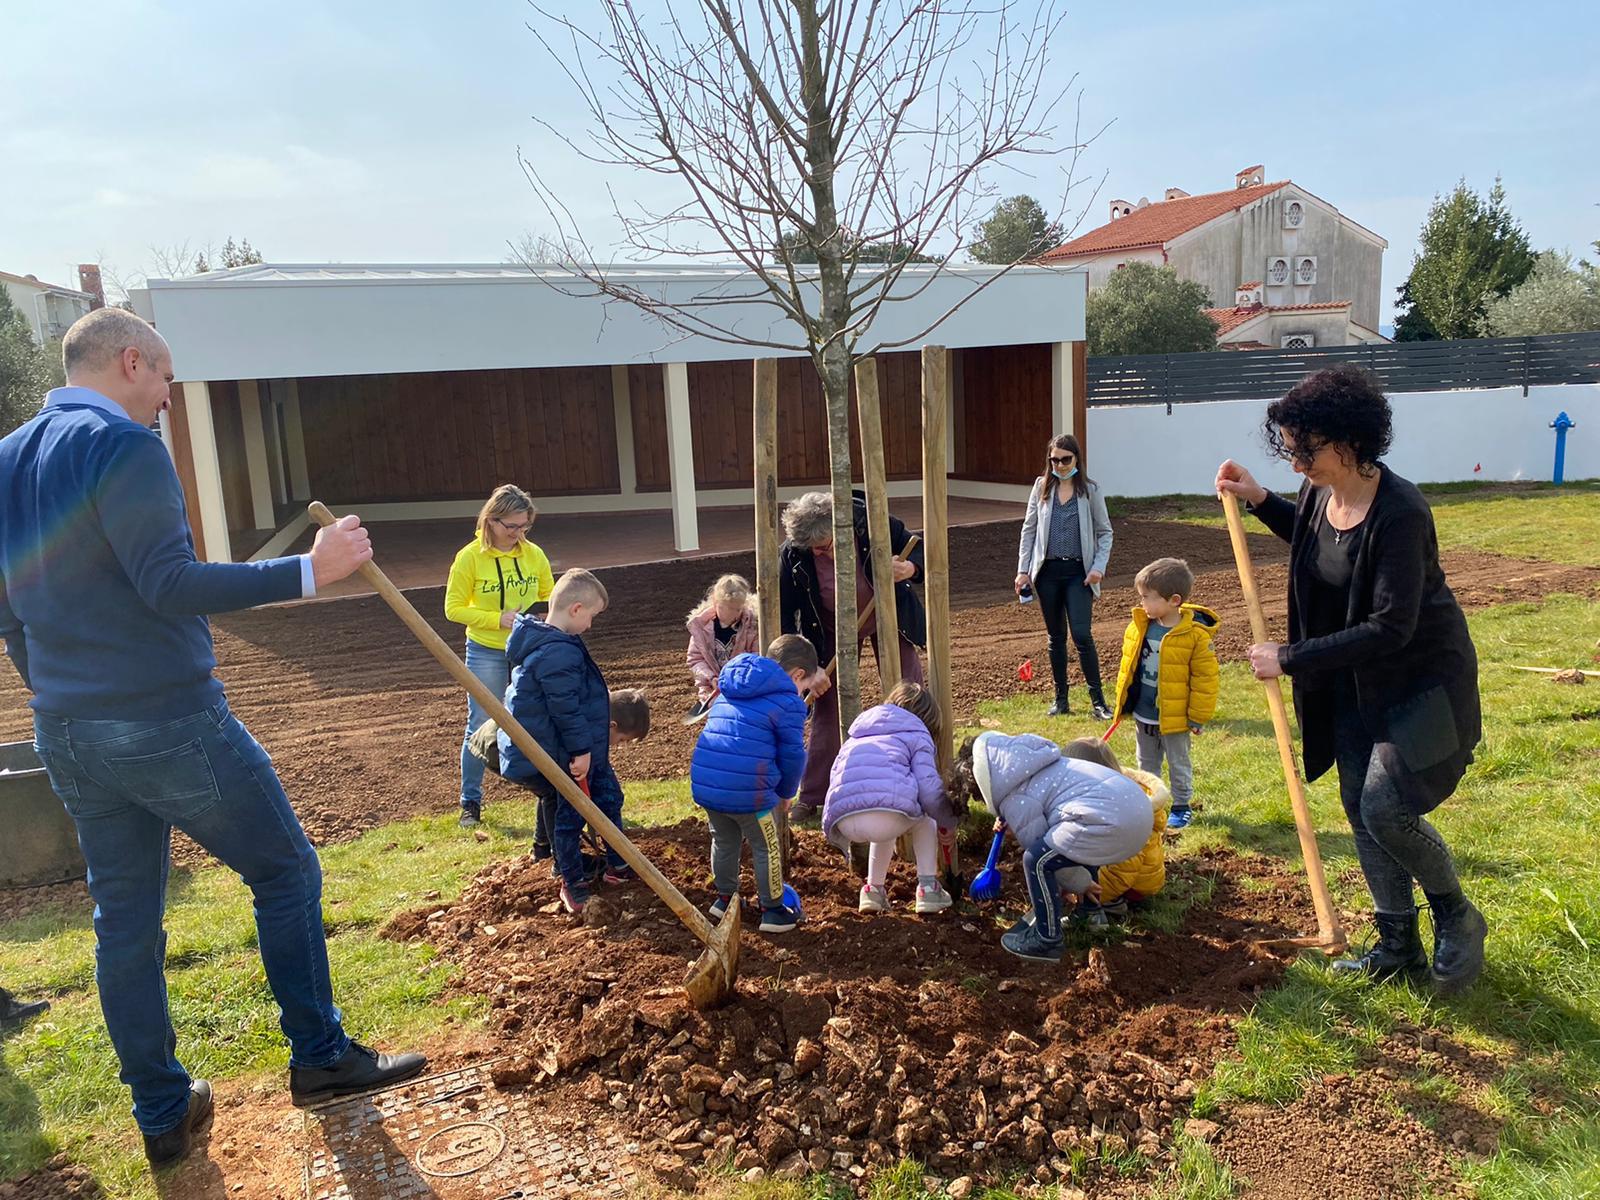
[[(322, 501), (312, 501), (307, 510), (310, 512), (310, 518), (318, 525), (333, 525), (336, 520)], [(605, 843), (616, 850), (627, 866), (638, 872), (638, 877), (650, 885), (651, 891), (661, 896), (662, 902), (690, 928), (690, 933), (702, 942), (710, 942), (712, 925), (706, 915), (682, 891), (672, 886), (672, 882), (666, 875), (656, 870), (656, 866), (640, 853), (638, 846), (629, 842), (621, 829), (611, 824), (611, 819), (605, 813), (595, 808), (594, 800), (584, 795), (578, 781), (557, 766), (550, 755), (544, 752), (544, 747), (533, 739), (533, 734), (522, 728), (522, 723), (510, 715), (501, 698), (483, 680), (467, 670), (467, 664), (461, 661), (445, 638), (434, 632), (434, 627), (400, 594), (400, 589), (389, 581), (389, 576), (378, 570), (378, 563), (370, 560), (362, 563), (362, 578), (395, 610), (395, 616), (416, 635), (416, 640), (422, 643), (427, 653), (437, 658), (440, 666), (454, 677), (456, 683), (472, 694), (478, 707), (506, 731), (506, 736), (517, 744), (517, 749), (528, 755), (528, 762), (539, 768), (539, 774), (549, 779), (566, 803), (576, 808), (584, 821), (594, 826), (600, 837), (605, 838)]]

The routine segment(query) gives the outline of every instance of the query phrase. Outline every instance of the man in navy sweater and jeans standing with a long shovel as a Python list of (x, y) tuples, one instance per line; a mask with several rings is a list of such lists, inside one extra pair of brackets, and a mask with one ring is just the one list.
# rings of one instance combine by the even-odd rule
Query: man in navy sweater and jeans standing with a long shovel
[(62, 342), (67, 387), (0, 440), (0, 634), (34, 693), (34, 741), (78, 830), (94, 979), (152, 1165), (182, 1158), (211, 1086), (178, 1061), (166, 1008), (168, 850), (181, 829), (254, 893), (296, 1104), (416, 1075), (341, 1026), (322, 867), (272, 760), (211, 674), (206, 613), (314, 595), (371, 558), (355, 517), (310, 554), (202, 563), (162, 438), (173, 360), (146, 322), (99, 309)]

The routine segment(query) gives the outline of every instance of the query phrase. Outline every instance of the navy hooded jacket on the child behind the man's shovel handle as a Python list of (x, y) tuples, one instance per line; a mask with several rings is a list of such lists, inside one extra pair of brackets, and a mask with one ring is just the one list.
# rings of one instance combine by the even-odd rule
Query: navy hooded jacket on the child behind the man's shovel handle
[[(563, 771), (587, 754), (590, 774), (602, 778), (600, 768), (611, 762), (611, 694), (584, 640), (536, 616), (518, 616), (506, 642), (506, 707), (517, 723)], [(501, 774), (546, 792), (539, 768), (504, 730), (496, 741)]]

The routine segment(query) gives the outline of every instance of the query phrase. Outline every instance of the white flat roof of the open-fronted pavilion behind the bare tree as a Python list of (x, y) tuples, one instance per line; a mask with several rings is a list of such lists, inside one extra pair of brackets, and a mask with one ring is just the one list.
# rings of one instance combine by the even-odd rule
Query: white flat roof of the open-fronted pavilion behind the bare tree
[[(262, 262), (152, 278), (134, 309), (173, 347), (178, 379), (275, 379), (800, 355), (800, 331), (739, 266), (592, 270), (730, 333), (690, 334), (602, 294), (571, 267), (504, 262)], [(856, 286), (866, 269), (858, 272)], [(814, 291), (814, 282), (802, 282)], [(1083, 339), (1080, 267), (907, 266), (861, 346)]]

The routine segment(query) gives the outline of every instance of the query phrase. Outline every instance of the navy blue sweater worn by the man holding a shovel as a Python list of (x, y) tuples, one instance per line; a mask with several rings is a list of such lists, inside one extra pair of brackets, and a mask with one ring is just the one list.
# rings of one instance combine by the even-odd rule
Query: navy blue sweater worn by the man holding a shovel
[(302, 595), (302, 560), (195, 562), (162, 438), (61, 387), (0, 440), (0, 634), (32, 707), (163, 720), (222, 699), (206, 613)]

